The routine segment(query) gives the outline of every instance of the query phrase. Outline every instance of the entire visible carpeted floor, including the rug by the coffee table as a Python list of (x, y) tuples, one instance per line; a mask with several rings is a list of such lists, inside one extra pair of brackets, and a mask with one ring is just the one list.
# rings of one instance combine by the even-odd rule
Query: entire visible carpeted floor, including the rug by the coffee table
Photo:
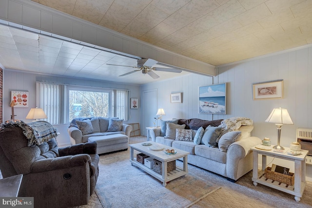
[[(131, 137), (130, 143), (146, 141)], [(294, 196), (259, 184), (252, 171), (236, 183), (188, 165), (189, 174), (166, 187), (129, 162), (130, 152), (100, 155), (100, 174), (88, 205), (77, 208), (312, 208), (312, 183), (307, 182), (300, 202)], [(181, 161), (176, 161), (182, 166)]]

